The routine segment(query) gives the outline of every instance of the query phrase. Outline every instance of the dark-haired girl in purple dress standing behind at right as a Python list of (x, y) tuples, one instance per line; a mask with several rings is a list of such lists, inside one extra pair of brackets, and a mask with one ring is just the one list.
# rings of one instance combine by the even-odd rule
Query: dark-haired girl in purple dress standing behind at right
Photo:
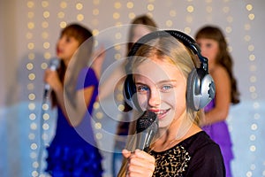
[(201, 47), (201, 55), (208, 58), (209, 73), (216, 83), (216, 97), (205, 107), (205, 119), (201, 126), (219, 144), (226, 176), (231, 177), (232, 142), (225, 119), (230, 105), (239, 104), (237, 81), (232, 73), (232, 58), (223, 33), (218, 27), (202, 27), (195, 39)]

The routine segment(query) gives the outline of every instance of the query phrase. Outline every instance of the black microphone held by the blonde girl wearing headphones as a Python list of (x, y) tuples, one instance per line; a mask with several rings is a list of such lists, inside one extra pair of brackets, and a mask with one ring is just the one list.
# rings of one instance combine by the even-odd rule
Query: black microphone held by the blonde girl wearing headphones
[(155, 112), (145, 111), (136, 122), (136, 149), (148, 152), (157, 130), (158, 119)]

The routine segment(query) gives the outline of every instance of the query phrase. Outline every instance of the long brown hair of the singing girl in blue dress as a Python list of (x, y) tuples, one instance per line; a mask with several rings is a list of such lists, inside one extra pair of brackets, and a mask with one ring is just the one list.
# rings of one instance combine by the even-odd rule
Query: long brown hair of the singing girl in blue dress
[[(61, 31), (61, 35), (60, 38), (63, 35), (68, 35), (68, 36), (72, 36), (74, 37), (78, 42), (79, 42), (79, 47), (84, 45), (84, 47), (86, 49), (79, 51), (79, 53), (77, 54), (77, 61), (72, 62), (75, 66), (75, 73), (72, 73), (71, 75), (71, 83), (68, 83), (68, 85), (72, 84), (71, 89), (75, 89), (75, 83), (77, 80), (77, 74), (79, 74), (79, 67), (84, 67), (84, 65), (87, 65), (87, 61), (90, 58), (90, 55), (92, 53), (92, 48), (93, 48), (93, 35), (90, 31), (90, 29), (88, 29), (87, 27), (83, 27), (79, 24), (70, 24), (67, 27), (64, 27), (64, 29)], [(89, 40), (87, 40), (89, 39)], [(82, 47), (83, 48), (83, 47)], [(84, 54), (84, 52), (86, 52), (86, 54)], [(85, 55), (85, 56), (84, 56)], [(77, 65), (78, 64), (78, 65)], [(60, 81), (62, 81), (62, 83), (64, 83), (64, 76), (66, 73), (67, 67), (66, 65), (64, 65), (64, 61), (61, 60), (60, 61), (60, 67), (57, 69), (57, 73), (59, 75), (59, 79)], [(68, 86), (67, 86), (68, 87)], [(71, 90), (72, 91), (72, 90)], [(57, 105), (57, 97), (54, 91), (51, 92), (51, 102), (52, 102), (52, 106), (56, 106)]]

